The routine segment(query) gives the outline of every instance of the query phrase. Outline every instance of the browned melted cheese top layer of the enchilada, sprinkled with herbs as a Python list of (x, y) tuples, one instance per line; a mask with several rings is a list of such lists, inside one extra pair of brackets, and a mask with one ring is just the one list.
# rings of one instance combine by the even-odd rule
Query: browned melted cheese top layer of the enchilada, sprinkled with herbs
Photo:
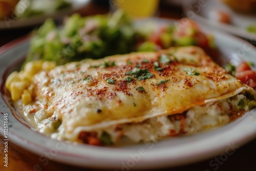
[[(162, 54), (172, 62), (161, 62)], [(161, 71), (157, 71), (156, 62)], [(136, 67), (148, 70), (152, 77), (138, 80), (127, 75)], [(81, 131), (182, 113), (245, 89), (254, 94), (198, 47), (72, 62), (36, 74), (33, 84), (36, 100), (24, 105), (25, 114), (35, 113), (37, 127), (44, 127), (49, 118), (61, 119), (68, 139)]]

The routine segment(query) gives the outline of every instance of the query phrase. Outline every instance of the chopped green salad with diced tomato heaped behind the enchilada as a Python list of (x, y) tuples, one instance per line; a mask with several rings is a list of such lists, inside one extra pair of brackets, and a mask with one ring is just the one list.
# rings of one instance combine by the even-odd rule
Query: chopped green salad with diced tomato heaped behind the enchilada
[[(199, 29), (199, 33), (194, 31), (186, 35), (180, 33), (174, 25), (160, 29), (156, 24), (152, 26), (135, 26), (132, 19), (121, 10), (112, 15), (81, 17), (73, 14), (65, 20), (62, 28), (57, 28), (53, 19), (47, 19), (44, 25), (32, 33), (26, 62), (42, 59), (62, 65), (85, 58), (98, 59), (134, 51), (156, 51), (170, 46), (202, 45), (196, 37), (199, 33), (203, 34)], [(209, 47), (210, 41), (205, 39), (203, 42)]]

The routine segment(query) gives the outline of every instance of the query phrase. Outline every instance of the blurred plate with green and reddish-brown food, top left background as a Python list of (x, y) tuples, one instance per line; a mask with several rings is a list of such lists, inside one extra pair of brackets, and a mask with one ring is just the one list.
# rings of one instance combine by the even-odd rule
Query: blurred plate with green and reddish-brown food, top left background
[(90, 0), (0, 0), (0, 29), (29, 27), (44, 23), (49, 17), (62, 18), (89, 2)]

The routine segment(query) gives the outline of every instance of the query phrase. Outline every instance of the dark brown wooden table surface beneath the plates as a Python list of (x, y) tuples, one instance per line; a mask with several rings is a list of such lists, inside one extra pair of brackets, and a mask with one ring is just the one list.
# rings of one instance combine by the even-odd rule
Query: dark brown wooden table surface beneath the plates
[[(79, 12), (86, 15), (104, 14), (108, 13), (109, 8), (104, 6), (98, 6), (89, 3), (86, 7)], [(178, 7), (172, 7), (168, 4), (160, 4), (159, 17), (179, 19), (182, 17), (182, 10)], [(0, 47), (7, 42), (18, 38), (20, 36), (28, 34), (33, 28), (21, 28), (11, 30), (0, 30)], [(2, 124), (1, 124), (2, 126)], [(235, 133), (234, 133), (235, 134)], [(47, 165), (39, 162), (39, 156), (27, 151), (26, 149), (19, 147), (17, 144), (9, 140), (8, 144), (8, 167), (4, 166), (4, 137), (0, 135), (0, 171), (2, 170), (97, 170), (92, 168), (80, 168), (71, 165), (50, 160)], [(161, 168), (157, 170), (256, 170), (256, 139), (251, 142), (240, 146), (231, 155), (226, 155), (227, 158), (219, 155), (210, 159), (206, 159), (201, 162), (173, 167), (173, 168)], [(100, 162), (100, 161), (99, 161)], [(39, 168), (34, 167), (39, 165)], [(113, 169), (114, 170), (114, 169)]]

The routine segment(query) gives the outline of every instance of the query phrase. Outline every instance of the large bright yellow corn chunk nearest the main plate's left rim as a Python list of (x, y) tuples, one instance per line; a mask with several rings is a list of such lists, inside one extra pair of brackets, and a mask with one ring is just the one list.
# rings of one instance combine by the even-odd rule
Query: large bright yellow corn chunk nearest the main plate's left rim
[(13, 101), (17, 101), (23, 94), (24, 89), (27, 87), (26, 81), (15, 81), (11, 83), (11, 97)]

